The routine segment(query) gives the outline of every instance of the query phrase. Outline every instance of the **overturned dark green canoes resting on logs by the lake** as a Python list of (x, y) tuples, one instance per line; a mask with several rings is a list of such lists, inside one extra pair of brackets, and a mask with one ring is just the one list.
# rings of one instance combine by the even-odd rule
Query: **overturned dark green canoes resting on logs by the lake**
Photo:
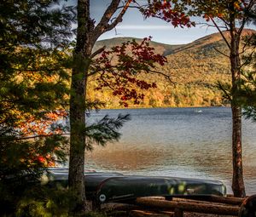
[[(67, 185), (65, 168), (49, 169), (49, 184)], [(220, 181), (177, 177), (124, 175), (119, 173), (84, 173), (86, 197), (98, 203), (132, 200), (137, 197), (225, 196), (226, 187)]]

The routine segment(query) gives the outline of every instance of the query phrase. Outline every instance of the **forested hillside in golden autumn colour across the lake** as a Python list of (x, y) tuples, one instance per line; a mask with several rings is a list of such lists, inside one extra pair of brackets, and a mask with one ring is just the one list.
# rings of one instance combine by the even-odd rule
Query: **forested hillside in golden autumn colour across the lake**
[[(247, 30), (244, 34), (252, 31)], [(112, 38), (96, 43), (96, 48), (110, 48), (132, 38)], [(137, 39), (138, 42), (141, 39)], [(154, 81), (157, 89), (145, 91), (145, 99), (141, 105), (129, 104), (129, 107), (160, 107), (160, 106), (223, 106), (222, 93), (216, 87), (218, 81), (230, 81), (229, 54), (221, 36), (214, 33), (185, 45), (168, 45), (151, 43), (155, 51), (166, 55), (166, 66), (161, 71), (172, 78), (172, 83), (157, 74), (144, 75), (145, 81)], [(220, 52), (219, 52), (220, 51)], [(93, 78), (92, 78), (93, 79)], [(89, 87), (91, 99), (100, 99), (107, 103), (108, 108), (119, 107), (119, 99), (111, 91), (103, 89), (95, 91), (96, 84)], [(107, 90), (107, 91), (106, 91)]]

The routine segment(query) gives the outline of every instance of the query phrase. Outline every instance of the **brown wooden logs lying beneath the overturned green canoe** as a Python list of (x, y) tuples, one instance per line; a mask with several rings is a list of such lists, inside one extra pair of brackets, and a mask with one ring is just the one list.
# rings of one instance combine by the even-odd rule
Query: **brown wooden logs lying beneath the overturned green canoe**
[(235, 197), (168, 198), (140, 197), (133, 202), (113, 206), (129, 216), (183, 217), (184, 212), (238, 216), (244, 199)]

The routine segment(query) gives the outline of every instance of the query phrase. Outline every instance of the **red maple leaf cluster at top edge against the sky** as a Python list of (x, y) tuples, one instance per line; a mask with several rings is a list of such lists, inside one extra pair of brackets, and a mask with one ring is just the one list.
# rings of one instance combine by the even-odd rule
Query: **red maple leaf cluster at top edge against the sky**
[(172, 23), (174, 27), (195, 26), (195, 22), (191, 21), (189, 16), (184, 14), (183, 7), (176, 7), (170, 1), (148, 0), (148, 5), (140, 10), (146, 18), (160, 18), (161, 20)]

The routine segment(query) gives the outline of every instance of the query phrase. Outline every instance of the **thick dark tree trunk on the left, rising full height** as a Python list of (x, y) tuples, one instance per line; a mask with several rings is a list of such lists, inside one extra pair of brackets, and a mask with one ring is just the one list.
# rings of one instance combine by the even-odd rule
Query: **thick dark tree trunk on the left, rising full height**
[(75, 197), (72, 212), (85, 210), (84, 151), (85, 96), (90, 66), (90, 0), (78, 1), (78, 32), (73, 52), (73, 71), (70, 96), (70, 155), (68, 184)]

